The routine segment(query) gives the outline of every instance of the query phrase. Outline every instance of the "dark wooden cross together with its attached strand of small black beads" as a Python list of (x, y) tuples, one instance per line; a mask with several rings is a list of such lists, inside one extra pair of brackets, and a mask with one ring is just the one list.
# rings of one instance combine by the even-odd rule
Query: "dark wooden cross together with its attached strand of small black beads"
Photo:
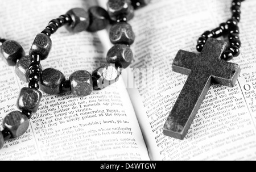
[[(234, 87), (241, 69), (237, 64), (226, 62), (240, 54), (241, 2), (233, 0), (232, 18), (212, 31), (206, 31), (197, 41), (195, 54), (180, 50), (172, 64), (174, 72), (188, 75), (183, 90), (177, 98), (164, 124), (164, 135), (183, 140), (210, 89), (211, 83)], [(228, 36), (229, 46), (214, 38)]]

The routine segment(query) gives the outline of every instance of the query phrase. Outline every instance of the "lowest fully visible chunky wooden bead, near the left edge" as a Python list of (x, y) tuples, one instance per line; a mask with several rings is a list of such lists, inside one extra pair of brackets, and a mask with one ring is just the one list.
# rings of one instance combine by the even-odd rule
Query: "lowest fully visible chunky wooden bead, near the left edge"
[(13, 111), (3, 119), (3, 128), (10, 131), (13, 138), (22, 136), (28, 129), (29, 121), (26, 115)]

